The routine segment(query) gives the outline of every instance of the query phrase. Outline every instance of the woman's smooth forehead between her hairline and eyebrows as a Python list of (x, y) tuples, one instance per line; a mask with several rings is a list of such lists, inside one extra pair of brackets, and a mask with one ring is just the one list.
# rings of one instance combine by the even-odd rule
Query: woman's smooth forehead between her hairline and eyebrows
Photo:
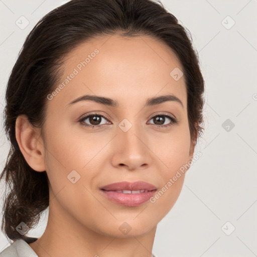
[(63, 86), (54, 101), (63, 106), (83, 94), (116, 99), (121, 106), (167, 93), (186, 106), (184, 76), (176, 81), (170, 75), (175, 68), (182, 70), (179, 60), (166, 44), (149, 36), (91, 39), (68, 53), (62, 68), (56, 86)]

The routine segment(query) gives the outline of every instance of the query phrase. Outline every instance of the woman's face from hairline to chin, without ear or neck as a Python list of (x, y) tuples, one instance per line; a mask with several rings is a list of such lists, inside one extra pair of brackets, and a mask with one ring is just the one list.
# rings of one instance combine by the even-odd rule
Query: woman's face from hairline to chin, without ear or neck
[[(126, 236), (122, 228), (131, 229), (130, 236), (148, 233), (176, 202), (185, 174), (167, 184), (193, 154), (181, 65), (166, 45), (150, 37), (113, 35), (80, 44), (63, 68), (59, 89), (48, 95), (44, 125), (50, 215), (106, 235)], [(84, 95), (110, 98), (116, 105), (71, 103)], [(146, 104), (164, 95), (182, 104), (172, 99)], [(115, 202), (101, 190), (122, 181), (150, 183), (155, 193), (166, 185), (166, 192), (152, 201), (137, 204), (136, 196), (121, 204), (127, 194), (119, 193), (124, 197)]]

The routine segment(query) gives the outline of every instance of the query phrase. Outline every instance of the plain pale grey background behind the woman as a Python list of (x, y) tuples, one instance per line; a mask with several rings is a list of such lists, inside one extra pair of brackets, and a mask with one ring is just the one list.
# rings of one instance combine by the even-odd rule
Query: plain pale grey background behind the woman
[[(2, 115), (6, 83), (26, 36), (45, 14), (66, 2), (0, 0)], [(187, 172), (177, 202), (159, 223), (153, 253), (257, 256), (257, 1), (162, 3), (191, 32), (199, 53), (206, 85), (205, 133), (195, 150), (202, 157)], [(21, 16), (29, 22), (26, 28), (16, 25), (24, 19), (26, 26)], [(3, 116), (1, 126), (2, 172), (10, 147)], [(41, 236), (46, 222), (47, 211), (29, 236)], [(0, 251), (10, 245), (3, 233), (0, 241)]]

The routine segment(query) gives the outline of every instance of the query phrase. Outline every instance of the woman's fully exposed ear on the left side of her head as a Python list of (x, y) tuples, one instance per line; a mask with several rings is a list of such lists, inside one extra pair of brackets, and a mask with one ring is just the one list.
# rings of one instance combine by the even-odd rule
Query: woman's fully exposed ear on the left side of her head
[(30, 123), (27, 115), (21, 114), (17, 117), (15, 135), (29, 166), (35, 171), (45, 171), (45, 149), (43, 140), (40, 139), (40, 129)]

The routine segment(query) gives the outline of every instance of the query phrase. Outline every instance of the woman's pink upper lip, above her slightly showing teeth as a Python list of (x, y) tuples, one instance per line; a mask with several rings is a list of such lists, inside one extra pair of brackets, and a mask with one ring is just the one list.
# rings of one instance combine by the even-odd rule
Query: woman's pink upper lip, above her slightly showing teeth
[(102, 187), (101, 189), (107, 190), (107, 191), (115, 191), (115, 190), (137, 191), (137, 190), (141, 190), (141, 189), (152, 191), (152, 190), (155, 190), (156, 187), (154, 185), (149, 184), (144, 181), (136, 181), (136, 182), (122, 181), (122, 182), (117, 182), (117, 183), (106, 185), (106, 186)]

